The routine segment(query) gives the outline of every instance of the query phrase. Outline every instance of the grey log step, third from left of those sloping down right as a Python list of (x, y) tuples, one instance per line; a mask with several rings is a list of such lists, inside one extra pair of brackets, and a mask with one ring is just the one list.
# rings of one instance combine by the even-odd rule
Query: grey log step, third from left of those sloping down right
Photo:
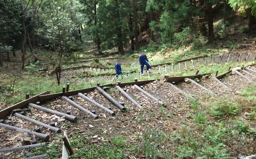
[(43, 106), (39, 106), (39, 105), (32, 104), (32, 103), (29, 103), (28, 106), (36, 108), (36, 109), (40, 109), (40, 110), (45, 111), (47, 113), (56, 114), (56, 115), (59, 115), (59, 116), (66, 116), (66, 118), (65, 118), (66, 120), (72, 121), (74, 123), (76, 123), (76, 121), (77, 121), (76, 116), (68, 115), (68, 114), (65, 114), (65, 113), (62, 113), (62, 112), (57, 112), (55, 110), (48, 109), (48, 108), (45, 108)]

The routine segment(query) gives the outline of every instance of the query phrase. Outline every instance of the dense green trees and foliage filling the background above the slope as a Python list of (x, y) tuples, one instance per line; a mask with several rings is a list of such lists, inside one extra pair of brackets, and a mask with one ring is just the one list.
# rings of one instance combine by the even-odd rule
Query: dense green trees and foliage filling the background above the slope
[(28, 56), (46, 48), (61, 69), (83, 43), (82, 30), (99, 54), (114, 47), (124, 54), (128, 44), (138, 50), (138, 36), (145, 31), (151, 41), (165, 44), (187, 29), (212, 41), (214, 16), (223, 12), (225, 27), (232, 9), (248, 17), (249, 30), (256, 28), (254, 0), (0, 0), (0, 65), (2, 55), (9, 61), (11, 51), (15, 56), (21, 50), (24, 68)]

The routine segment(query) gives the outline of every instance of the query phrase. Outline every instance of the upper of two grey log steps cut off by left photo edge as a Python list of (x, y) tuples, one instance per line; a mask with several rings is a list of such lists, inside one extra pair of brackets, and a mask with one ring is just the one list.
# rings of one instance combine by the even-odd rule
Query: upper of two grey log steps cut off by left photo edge
[(26, 133), (28, 133), (29, 135), (35, 135), (36, 137), (43, 139), (45, 142), (48, 142), (49, 139), (50, 139), (50, 136), (47, 135), (47, 134), (38, 133), (38, 132), (34, 132), (34, 131), (30, 131), (30, 130), (18, 128), (18, 127), (11, 126), (11, 125), (7, 125), (7, 124), (3, 124), (3, 123), (0, 123), (0, 126), (6, 128), (6, 129), (9, 129), (9, 130), (15, 130), (15, 131), (20, 131), (20, 132), (26, 132)]

